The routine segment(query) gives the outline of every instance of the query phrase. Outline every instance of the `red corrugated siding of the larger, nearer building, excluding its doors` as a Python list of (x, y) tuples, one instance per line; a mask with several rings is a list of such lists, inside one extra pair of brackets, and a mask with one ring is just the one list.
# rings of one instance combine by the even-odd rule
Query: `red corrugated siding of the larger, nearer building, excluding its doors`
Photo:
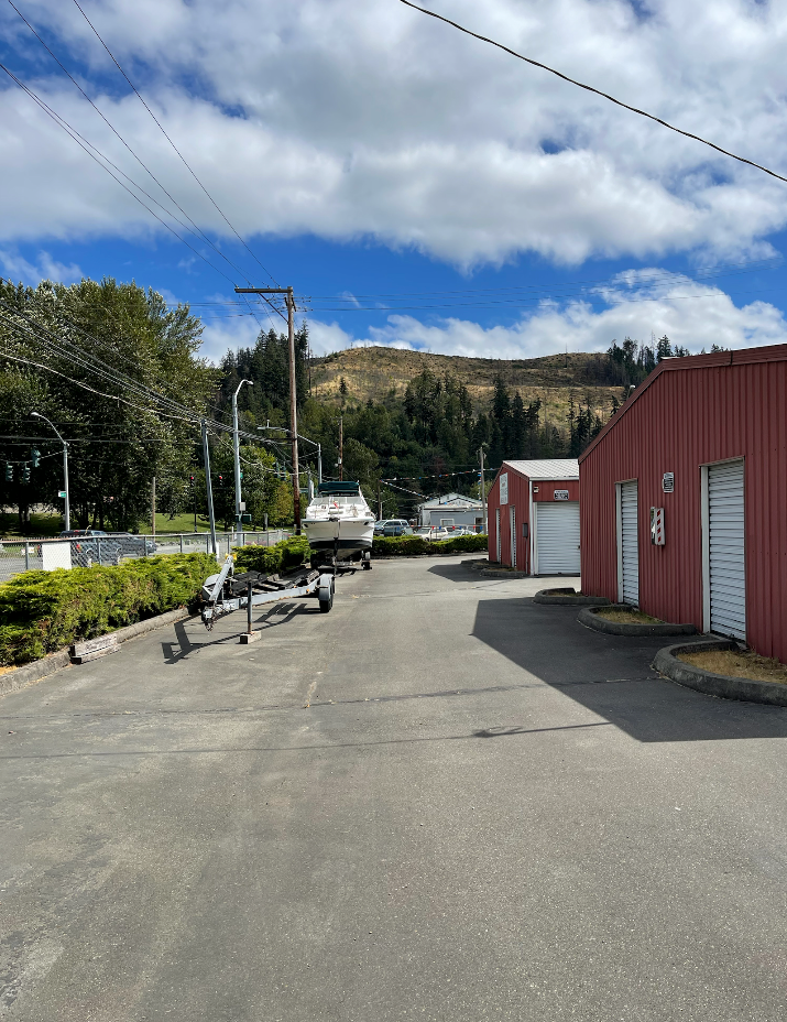
[[(616, 599), (615, 482), (637, 478), (640, 606), (701, 629), (700, 466), (745, 458), (747, 641), (787, 661), (787, 350), (764, 350), (767, 360), (724, 352), (714, 363), (667, 363), (586, 453), (582, 588)], [(666, 471), (675, 472), (674, 493), (662, 491)], [(648, 542), (651, 507), (665, 509), (664, 546)]]

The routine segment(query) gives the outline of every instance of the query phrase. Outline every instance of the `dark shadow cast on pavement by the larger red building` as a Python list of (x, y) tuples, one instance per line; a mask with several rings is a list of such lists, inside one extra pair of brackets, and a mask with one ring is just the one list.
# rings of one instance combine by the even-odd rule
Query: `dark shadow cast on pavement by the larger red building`
[(579, 624), (577, 612), (531, 599), (481, 600), (472, 633), (637, 741), (787, 737), (784, 708), (714, 699), (659, 677), (651, 664), (669, 639), (605, 635)]

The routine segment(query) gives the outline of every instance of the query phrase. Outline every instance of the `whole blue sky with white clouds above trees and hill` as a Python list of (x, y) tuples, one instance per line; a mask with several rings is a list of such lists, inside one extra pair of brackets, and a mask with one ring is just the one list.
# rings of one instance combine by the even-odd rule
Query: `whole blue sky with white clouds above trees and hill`
[[(196, 177), (74, 0), (14, 4), (3, 276), (134, 279), (211, 358), (273, 280), (316, 352), (787, 343), (787, 184), (398, 0), (80, 0)], [(787, 176), (787, 0), (424, 6)]]

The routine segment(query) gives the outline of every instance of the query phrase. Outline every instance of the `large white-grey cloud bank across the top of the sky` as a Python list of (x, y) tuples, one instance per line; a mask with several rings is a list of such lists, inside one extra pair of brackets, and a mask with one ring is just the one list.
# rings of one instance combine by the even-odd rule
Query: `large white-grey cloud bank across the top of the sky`
[[(644, 14), (628, 0), (431, 7), (725, 148), (787, 166), (785, 0), (653, 0)], [(184, 208), (227, 233), (76, 8), (31, 0), (26, 10), (62, 33), (67, 59), (70, 46), (92, 66), (108, 93), (97, 101)], [(470, 267), (524, 250), (562, 263), (763, 254), (768, 233), (787, 224), (783, 184), (393, 0), (227, 0), (216, 11), (209, 0), (107, 0), (92, 14), (245, 235), (372, 236)], [(3, 11), (0, 25), (40, 59), (14, 19)], [(39, 66), (48, 75), (48, 64)], [(199, 95), (184, 80), (198, 83)], [(34, 85), (160, 195), (62, 77)], [(2, 237), (160, 230), (28, 97), (9, 90), (3, 99)]]

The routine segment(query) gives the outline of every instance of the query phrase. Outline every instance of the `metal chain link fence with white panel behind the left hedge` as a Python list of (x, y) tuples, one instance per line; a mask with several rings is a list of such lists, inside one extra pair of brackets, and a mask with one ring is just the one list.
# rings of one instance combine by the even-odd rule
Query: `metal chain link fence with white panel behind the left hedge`
[[(233, 546), (274, 546), (292, 535), (291, 529), (269, 529), (259, 532), (219, 532), (216, 534), (219, 559)], [(114, 565), (127, 559), (153, 554), (210, 553), (209, 532), (159, 533), (153, 535), (108, 534), (72, 536), (69, 539), (0, 540), (0, 581), (8, 581), (22, 572), (55, 568)]]

